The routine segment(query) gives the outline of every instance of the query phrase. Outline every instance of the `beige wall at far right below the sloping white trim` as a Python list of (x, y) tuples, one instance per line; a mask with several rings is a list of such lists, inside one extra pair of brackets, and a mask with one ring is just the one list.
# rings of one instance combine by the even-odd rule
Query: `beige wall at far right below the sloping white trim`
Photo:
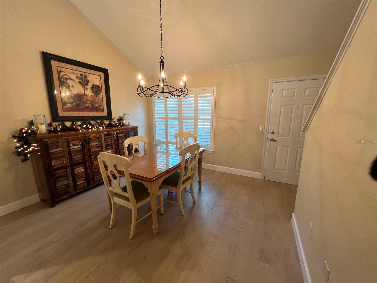
[[(296, 216), (313, 282), (376, 282), (376, 6), (372, 1), (305, 135)], [(311, 240), (307, 229), (313, 223)]]

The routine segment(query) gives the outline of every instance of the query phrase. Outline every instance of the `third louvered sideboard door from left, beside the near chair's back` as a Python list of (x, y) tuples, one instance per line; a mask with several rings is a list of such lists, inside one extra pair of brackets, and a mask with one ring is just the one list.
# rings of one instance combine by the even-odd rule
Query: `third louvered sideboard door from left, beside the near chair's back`
[(102, 150), (101, 135), (90, 135), (88, 139), (89, 161), (91, 164), (90, 180), (92, 184), (103, 182), (100, 165), (98, 163), (98, 155)]

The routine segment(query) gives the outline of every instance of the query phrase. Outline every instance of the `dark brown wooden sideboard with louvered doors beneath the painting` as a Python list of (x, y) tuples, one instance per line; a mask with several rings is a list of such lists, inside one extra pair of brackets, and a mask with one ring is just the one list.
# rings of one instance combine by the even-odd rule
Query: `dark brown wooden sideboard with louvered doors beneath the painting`
[(40, 200), (54, 207), (57, 201), (103, 183), (98, 154), (106, 151), (124, 156), (124, 140), (136, 135), (138, 126), (123, 126), (29, 137), (38, 145), (31, 160)]

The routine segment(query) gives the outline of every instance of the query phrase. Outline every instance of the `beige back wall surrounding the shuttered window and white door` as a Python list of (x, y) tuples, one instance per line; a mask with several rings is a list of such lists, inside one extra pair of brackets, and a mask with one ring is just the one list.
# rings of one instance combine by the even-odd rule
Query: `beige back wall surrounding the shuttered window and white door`
[[(261, 172), (265, 132), (259, 126), (266, 123), (270, 80), (327, 74), (335, 56), (334, 51), (185, 72), (189, 88), (216, 87), (215, 154), (205, 154), (203, 162)], [(169, 74), (167, 81), (178, 86), (182, 76)], [(146, 85), (156, 81), (148, 77)], [(149, 107), (153, 137), (152, 100)]]

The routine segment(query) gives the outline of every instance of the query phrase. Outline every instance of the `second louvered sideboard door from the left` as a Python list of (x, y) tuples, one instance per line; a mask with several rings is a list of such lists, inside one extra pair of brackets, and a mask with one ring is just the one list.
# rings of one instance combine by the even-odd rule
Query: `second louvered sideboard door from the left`
[(66, 141), (74, 189), (82, 191), (89, 185), (85, 139), (84, 137), (72, 137), (67, 138)]

